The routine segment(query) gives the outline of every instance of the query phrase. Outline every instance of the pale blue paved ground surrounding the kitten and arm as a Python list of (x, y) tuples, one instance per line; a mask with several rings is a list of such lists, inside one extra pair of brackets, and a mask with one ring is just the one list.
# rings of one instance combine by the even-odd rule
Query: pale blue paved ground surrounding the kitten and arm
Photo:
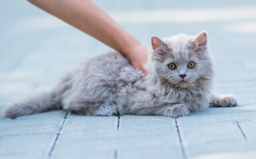
[[(84, 117), (51, 111), (0, 117), (0, 158), (256, 158), (256, 2), (96, 0), (151, 46), (153, 34), (208, 32), (214, 89), (237, 107), (188, 117)], [(47, 91), (110, 48), (27, 1), (0, 0), (0, 112)]]

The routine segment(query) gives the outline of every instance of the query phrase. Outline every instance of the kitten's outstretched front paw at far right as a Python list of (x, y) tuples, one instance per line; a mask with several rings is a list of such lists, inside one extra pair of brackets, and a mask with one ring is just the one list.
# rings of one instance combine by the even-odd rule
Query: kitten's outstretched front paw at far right
[(236, 105), (237, 100), (235, 95), (233, 94), (220, 95), (218, 98), (215, 98), (211, 103), (211, 107), (233, 107)]

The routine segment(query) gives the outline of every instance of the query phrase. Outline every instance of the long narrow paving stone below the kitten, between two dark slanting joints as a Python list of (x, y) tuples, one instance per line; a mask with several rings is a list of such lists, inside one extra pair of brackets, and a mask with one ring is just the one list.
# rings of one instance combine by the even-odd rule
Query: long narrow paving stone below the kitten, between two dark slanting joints
[[(58, 140), (56, 142), (56, 153), (76, 152), (82, 150), (115, 150), (124, 148), (140, 148), (145, 146), (172, 146), (178, 140), (173, 140), (171, 134), (161, 136), (134, 136), (126, 138), (103, 138), (99, 140)], [(66, 150), (66, 147), (69, 147)]]

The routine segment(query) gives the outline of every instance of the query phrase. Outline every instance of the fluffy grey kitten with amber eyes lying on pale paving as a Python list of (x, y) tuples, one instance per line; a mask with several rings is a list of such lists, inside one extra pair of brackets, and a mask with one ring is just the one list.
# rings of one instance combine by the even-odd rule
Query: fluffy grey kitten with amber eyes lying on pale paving
[(52, 91), (16, 103), (4, 117), (64, 109), (79, 115), (163, 115), (177, 118), (212, 107), (237, 105), (234, 95), (211, 91), (213, 69), (206, 32), (152, 37), (147, 77), (119, 52), (88, 60)]

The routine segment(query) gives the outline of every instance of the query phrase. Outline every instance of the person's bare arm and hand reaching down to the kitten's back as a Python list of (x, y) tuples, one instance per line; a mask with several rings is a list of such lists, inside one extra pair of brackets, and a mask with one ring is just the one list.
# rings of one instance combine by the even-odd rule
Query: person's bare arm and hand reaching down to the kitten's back
[(148, 48), (91, 0), (28, 1), (117, 50), (131, 61), (134, 68), (147, 74), (143, 64), (147, 62)]

